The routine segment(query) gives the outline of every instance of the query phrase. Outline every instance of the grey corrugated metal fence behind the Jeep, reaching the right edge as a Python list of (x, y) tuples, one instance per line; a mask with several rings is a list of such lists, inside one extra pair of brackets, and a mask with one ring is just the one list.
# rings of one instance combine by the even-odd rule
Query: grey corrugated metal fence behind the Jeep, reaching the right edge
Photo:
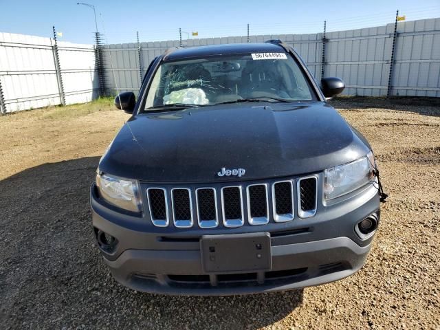
[[(250, 36), (250, 42), (280, 39), (292, 45), (318, 80), (325, 43), (324, 76), (342, 78), (347, 85), (345, 95), (386, 96), (393, 37), (394, 23), (391, 23), (375, 28), (329, 32), (324, 40), (321, 33), (267, 34)], [(247, 40), (248, 36), (190, 39), (184, 41), (184, 47), (245, 43)], [(137, 91), (140, 76), (153, 58), (176, 46), (179, 46), (178, 40), (109, 45), (104, 52), (109, 88)], [(137, 60), (138, 57), (141, 61)], [(397, 23), (394, 59), (390, 81), (392, 96), (440, 97), (440, 19)]]

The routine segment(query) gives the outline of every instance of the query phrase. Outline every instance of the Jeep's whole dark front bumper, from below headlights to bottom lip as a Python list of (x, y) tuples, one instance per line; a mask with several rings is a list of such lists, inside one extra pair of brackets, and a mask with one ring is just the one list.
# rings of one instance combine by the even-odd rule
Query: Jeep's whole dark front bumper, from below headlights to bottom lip
[[(349, 200), (320, 206), (309, 219), (212, 230), (176, 230), (146, 225), (100, 203), (91, 188), (95, 232), (118, 239), (112, 251), (101, 249), (114, 278), (141, 292), (182, 295), (233, 295), (298, 289), (337, 281), (354, 274), (371, 248), (373, 236), (360, 239), (356, 223), (379, 215), (379, 197), (373, 186)], [(199, 239), (204, 234), (269, 232), (272, 270), (241, 274), (206, 274)]]

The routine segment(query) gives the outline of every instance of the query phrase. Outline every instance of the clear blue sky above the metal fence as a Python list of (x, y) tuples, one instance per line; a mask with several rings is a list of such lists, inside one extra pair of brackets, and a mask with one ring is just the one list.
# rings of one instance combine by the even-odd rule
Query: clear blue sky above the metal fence
[[(251, 34), (321, 32), (327, 20), (330, 31), (382, 25), (394, 21), (395, 10), (407, 21), (440, 17), (440, 1), (98, 1), (98, 30), (109, 43), (179, 38), (179, 28), (199, 38)], [(93, 43), (91, 8), (78, 1), (0, 0), (0, 32), (52, 36), (52, 25), (63, 32), (63, 41)], [(183, 39), (188, 34), (182, 34)], [(192, 36), (189, 36), (192, 38)]]

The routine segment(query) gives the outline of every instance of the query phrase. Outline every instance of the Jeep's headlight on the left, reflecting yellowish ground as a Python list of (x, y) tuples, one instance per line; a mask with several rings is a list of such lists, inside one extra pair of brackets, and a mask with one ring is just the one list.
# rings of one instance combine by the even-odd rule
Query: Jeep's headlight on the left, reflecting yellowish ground
[(96, 186), (103, 199), (125, 210), (139, 212), (141, 199), (136, 181), (122, 180), (96, 173)]

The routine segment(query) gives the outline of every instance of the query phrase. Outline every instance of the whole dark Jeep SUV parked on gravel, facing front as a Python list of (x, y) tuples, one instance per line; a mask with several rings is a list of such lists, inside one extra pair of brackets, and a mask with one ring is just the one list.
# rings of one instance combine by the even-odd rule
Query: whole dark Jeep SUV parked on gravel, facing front
[(159, 294), (320, 285), (357, 272), (380, 219), (371, 146), (281, 43), (168, 50), (91, 186), (98, 246), (117, 281)]

